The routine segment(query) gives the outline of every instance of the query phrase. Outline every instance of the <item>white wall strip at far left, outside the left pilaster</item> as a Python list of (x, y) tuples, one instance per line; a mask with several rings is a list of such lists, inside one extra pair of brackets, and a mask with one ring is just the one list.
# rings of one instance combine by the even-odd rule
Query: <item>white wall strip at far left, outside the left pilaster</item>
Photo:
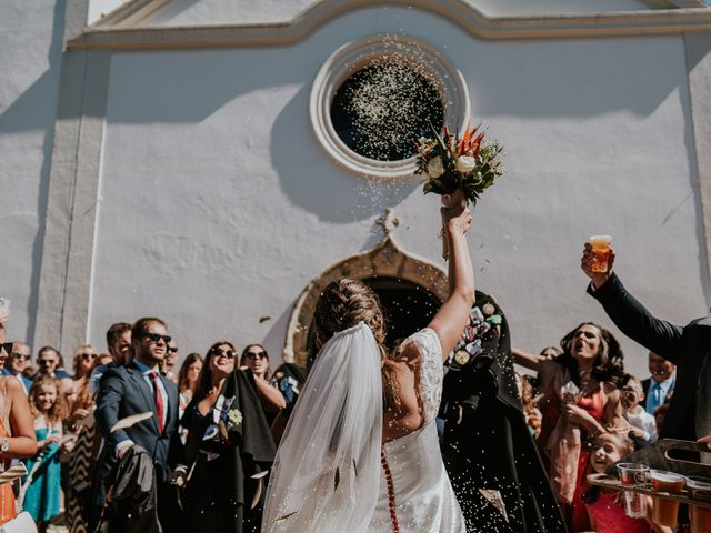
[(10, 340), (34, 331), (64, 11), (54, 0), (0, 2), (0, 295), (12, 302)]

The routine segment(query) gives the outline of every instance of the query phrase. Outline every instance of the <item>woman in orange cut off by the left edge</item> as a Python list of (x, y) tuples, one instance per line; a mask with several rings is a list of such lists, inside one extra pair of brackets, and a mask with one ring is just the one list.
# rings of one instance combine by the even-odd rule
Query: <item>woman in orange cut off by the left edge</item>
[[(6, 342), (4, 322), (9, 313), (0, 315), (0, 371), (12, 352)], [(12, 459), (31, 457), (37, 453), (34, 419), (20, 383), (11, 376), (0, 376), (0, 470), (10, 466)], [(0, 525), (16, 516), (12, 483), (0, 485)]]

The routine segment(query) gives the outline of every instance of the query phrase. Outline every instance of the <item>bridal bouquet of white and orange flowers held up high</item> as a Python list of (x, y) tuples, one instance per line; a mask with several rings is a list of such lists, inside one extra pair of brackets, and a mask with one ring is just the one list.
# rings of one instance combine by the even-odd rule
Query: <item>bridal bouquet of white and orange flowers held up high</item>
[(453, 134), (448, 128), (440, 135), (430, 124), (433, 137), (420, 138), (418, 149), (417, 174), (424, 175), (422, 190), (442, 195), (448, 205), (449, 198), (461, 191), (467, 201), (477, 203), (479, 195), (493, 185), (503, 173), (501, 147), (495, 140), (488, 142), (481, 127), (467, 128), (461, 135)]

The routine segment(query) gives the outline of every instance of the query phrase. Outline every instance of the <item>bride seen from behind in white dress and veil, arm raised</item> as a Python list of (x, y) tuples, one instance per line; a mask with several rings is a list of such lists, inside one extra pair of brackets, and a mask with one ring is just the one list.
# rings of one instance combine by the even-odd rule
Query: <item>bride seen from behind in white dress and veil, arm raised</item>
[(471, 213), (458, 207), (442, 217), (449, 298), (393, 354), (367, 285), (343, 279), (321, 293), (320, 351), (277, 452), (262, 533), (465, 531), (434, 418), (443, 362), (474, 302)]

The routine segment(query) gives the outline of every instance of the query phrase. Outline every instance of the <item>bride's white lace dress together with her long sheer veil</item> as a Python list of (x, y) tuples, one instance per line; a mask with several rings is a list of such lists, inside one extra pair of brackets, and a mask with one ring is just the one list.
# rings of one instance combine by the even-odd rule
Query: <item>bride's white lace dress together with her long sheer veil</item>
[(391, 533), (395, 521), (400, 533), (465, 531), (434, 422), (440, 341), (431, 329), (410, 341), (422, 356), (417, 381), (424, 423), (385, 444), (372, 332), (360, 323), (323, 345), (277, 451), (262, 533)]

